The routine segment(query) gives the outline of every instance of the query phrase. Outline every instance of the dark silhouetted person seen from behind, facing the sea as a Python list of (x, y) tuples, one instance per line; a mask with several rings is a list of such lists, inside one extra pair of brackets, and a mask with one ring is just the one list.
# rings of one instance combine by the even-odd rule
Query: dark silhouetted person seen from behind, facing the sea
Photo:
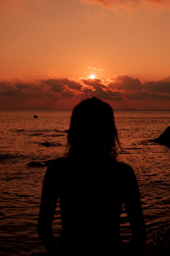
[[(38, 219), (38, 234), (51, 255), (123, 255), (120, 214), (124, 203), (132, 240), (130, 255), (145, 241), (138, 184), (132, 168), (116, 160), (118, 141), (113, 110), (93, 97), (73, 110), (69, 154), (48, 167)], [(62, 231), (52, 232), (60, 200)]]

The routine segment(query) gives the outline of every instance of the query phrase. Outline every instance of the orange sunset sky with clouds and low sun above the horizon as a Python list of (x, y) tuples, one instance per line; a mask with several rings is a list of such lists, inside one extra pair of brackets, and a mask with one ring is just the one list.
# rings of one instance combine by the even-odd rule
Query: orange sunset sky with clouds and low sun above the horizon
[(170, 109), (169, 0), (0, 0), (0, 33), (0, 109)]

